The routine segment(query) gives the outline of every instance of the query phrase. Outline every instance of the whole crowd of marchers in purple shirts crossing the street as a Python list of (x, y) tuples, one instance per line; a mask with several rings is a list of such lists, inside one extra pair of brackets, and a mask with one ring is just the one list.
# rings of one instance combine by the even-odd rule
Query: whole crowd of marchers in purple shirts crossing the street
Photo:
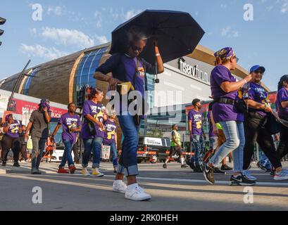
[[(146, 36), (139, 31), (131, 31), (128, 34), (127, 44), (123, 53), (115, 53), (106, 63), (96, 69), (94, 78), (109, 83), (111, 90), (116, 90), (119, 84), (130, 82), (134, 89), (141, 93), (145, 99), (146, 72), (154, 74), (164, 71), (158, 43), (154, 41), (154, 51), (157, 64), (151, 65), (139, 57), (146, 45)], [(213, 102), (209, 106), (208, 121), (210, 123), (209, 141), (210, 150), (203, 154), (204, 140), (206, 136), (202, 130), (201, 101), (194, 99), (194, 109), (189, 112), (189, 131), (194, 157), (187, 162), (194, 172), (203, 172), (205, 179), (214, 184), (214, 172), (232, 170), (225, 162), (227, 155), (232, 153), (233, 171), (232, 185), (251, 186), (256, 184), (256, 177), (251, 176), (249, 167), (253, 149), (257, 142), (273, 168), (275, 180), (288, 179), (288, 172), (282, 169), (281, 159), (288, 153), (288, 128), (280, 127), (280, 145), (275, 149), (273, 143), (273, 126), (277, 121), (272, 115), (269, 96), (261, 85), (261, 79), (265, 68), (255, 65), (250, 74), (237, 81), (231, 71), (236, 68), (238, 58), (232, 48), (221, 49), (215, 53), (216, 66), (211, 72), (211, 91)], [(112, 73), (112, 76), (108, 76)], [(76, 105), (68, 105), (68, 113), (61, 116), (58, 125), (49, 135), (49, 122), (51, 110), (49, 101), (43, 99), (35, 110), (27, 128), (13, 119), (13, 115), (6, 116), (4, 124), (4, 137), (2, 145), (2, 165), (6, 165), (7, 153), (11, 148), (14, 153), (14, 165), (18, 166), (18, 156), (21, 150), (24, 160), (27, 160), (25, 145), (28, 134), (32, 136), (32, 174), (41, 174), (39, 165), (42, 160), (45, 142), (48, 138), (54, 139), (58, 129), (63, 128), (62, 141), (65, 145), (63, 159), (58, 168), (58, 173), (75, 172), (75, 165), (71, 152), (77, 139), (77, 133), (81, 132), (84, 143), (82, 155), (82, 171), (84, 176), (89, 176), (88, 163), (92, 158), (92, 175), (104, 176), (101, 172), (101, 148), (103, 145), (111, 146), (115, 181), (113, 191), (125, 193), (125, 198), (130, 200), (149, 200), (151, 195), (146, 193), (137, 184), (137, 148), (138, 131), (144, 115), (132, 115), (125, 110), (125, 98), (120, 98), (122, 108), (111, 112), (101, 104), (104, 92), (92, 89), (89, 99), (84, 102), (82, 108), (83, 122), (79, 115), (75, 114)], [(124, 104), (123, 104), (124, 103)], [(127, 101), (127, 105), (131, 102)], [(126, 105), (126, 106), (127, 106)], [(288, 75), (280, 79), (277, 95), (277, 110), (281, 120), (288, 120)], [(123, 131), (122, 152), (118, 160), (117, 154), (117, 125), (115, 116), (118, 116), (120, 127)], [(274, 123), (274, 124), (273, 124)], [(164, 168), (171, 155), (178, 153), (182, 167), (187, 167), (182, 153), (182, 144), (177, 125), (173, 125), (170, 155), (165, 160)], [(68, 170), (65, 164), (68, 162)], [(220, 169), (218, 165), (222, 163)], [(127, 177), (127, 184), (123, 182)]]

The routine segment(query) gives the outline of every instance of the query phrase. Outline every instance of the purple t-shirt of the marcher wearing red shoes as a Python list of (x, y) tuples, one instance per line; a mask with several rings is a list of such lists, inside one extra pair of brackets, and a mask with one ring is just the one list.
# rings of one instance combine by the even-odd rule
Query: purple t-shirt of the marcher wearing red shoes
[(77, 132), (70, 132), (70, 129), (77, 129), (81, 127), (81, 120), (79, 115), (70, 115), (65, 113), (61, 115), (58, 124), (62, 124), (62, 140), (73, 141), (76, 143)]

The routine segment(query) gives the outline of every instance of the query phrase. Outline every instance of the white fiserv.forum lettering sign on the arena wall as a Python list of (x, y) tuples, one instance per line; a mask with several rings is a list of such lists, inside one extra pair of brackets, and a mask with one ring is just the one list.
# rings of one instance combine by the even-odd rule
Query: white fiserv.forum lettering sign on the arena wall
[(192, 76), (196, 79), (200, 79), (204, 82), (208, 82), (208, 73), (204, 72), (203, 70), (200, 70), (198, 68), (198, 65), (189, 65), (187, 63), (184, 63), (183, 60), (179, 59), (179, 70), (181, 72), (184, 72), (186, 75)]

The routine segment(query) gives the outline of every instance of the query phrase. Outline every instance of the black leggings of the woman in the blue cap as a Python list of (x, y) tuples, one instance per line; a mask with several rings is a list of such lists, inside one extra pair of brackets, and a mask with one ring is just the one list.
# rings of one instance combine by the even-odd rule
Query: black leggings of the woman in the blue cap
[(272, 135), (268, 129), (265, 128), (266, 123), (267, 117), (258, 115), (258, 113), (245, 113), (244, 129), (246, 143), (244, 146), (244, 170), (249, 168), (256, 141), (270, 160), (273, 167), (282, 167), (280, 158), (277, 155), (274, 146)]

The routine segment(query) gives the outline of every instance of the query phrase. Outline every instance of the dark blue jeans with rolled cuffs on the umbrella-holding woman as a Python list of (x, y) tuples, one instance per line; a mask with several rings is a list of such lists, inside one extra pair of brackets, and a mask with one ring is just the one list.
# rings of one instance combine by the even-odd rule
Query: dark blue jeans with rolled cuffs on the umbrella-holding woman
[(134, 118), (129, 113), (128, 115), (125, 115), (125, 113), (118, 115), (118, 120), (123, 131), (124, 139), (117, 172), (119, 174), (125, 174), (125, 176), (137, 176), (139, 174), (137, 150), (140, 125), (136, 126), (134, 124)]

